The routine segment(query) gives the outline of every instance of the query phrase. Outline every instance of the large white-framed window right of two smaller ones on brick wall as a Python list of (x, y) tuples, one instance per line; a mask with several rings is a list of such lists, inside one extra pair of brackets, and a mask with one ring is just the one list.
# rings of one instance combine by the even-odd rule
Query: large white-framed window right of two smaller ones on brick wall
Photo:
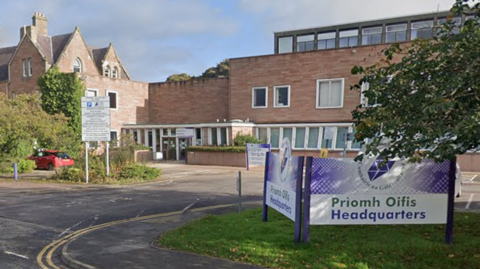
[(317, 108), (343, 107), (343, 78), (317, 80)]

